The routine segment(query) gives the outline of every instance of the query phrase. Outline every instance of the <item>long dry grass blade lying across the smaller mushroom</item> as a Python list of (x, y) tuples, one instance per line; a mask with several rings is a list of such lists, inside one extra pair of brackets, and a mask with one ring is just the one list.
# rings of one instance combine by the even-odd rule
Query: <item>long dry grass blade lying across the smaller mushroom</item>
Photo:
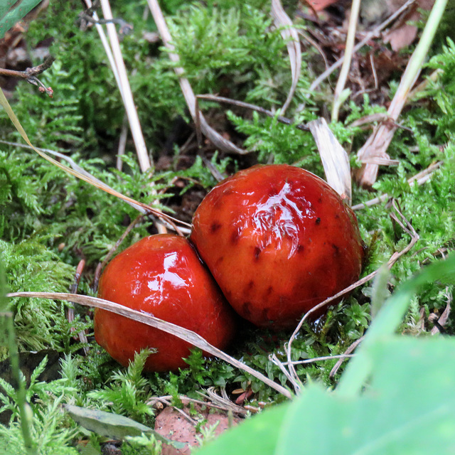
[(178, 338), (181, 338), (181, 340), (183, 341), (191, 343), (193, 346), (196, 346), (196, 348), (200, 348), (211, 355), (215, 355), (215, 357), (225, 360), (225, 362), (230, 363), (236, 368), (239, 368), (240, 370), (249, 373), (250, 375), (264, 382), (264, 384), (267, 384), (269, 387), (272, 387), (272, 389), (277, 390), (277, 392), (281, 393), (285, 397), (287, 398), (292, 397), (291, 392), (289, 392), (287, 388), (277, 384), (277, 382), (269, 380), (269, 378), (262, 375), (262, 373), (259, 373), (253, 368), (250, 368), (248, 365), (239, 362), (239, 360), (224, 353), (223, 350), (215, 348), (215, 346), (212, 346), (210, 343), (208, 343), (208, 341), (205, 341), (205, 339), (202, 338), (202, 336), (198, 335), (198, 333), (188, 330), (187, 328), (176, 326), (176, 324), (163, 321), (162, 319), (155, 318), (154, 316), (151, 316), (149, 314), (144, 314), (141, 313), (140, 311), (129, 309), (126, 306), (115, 304), (112, 301), (98, 299), (97, 297), (81, 296), (78, 294), (67, 294), (58, 292), (12, 292), (7, 296), (72, 301), (80, 305), (95, 306), (95, 308), (112, 311), (112, 313), (120, 314), (129, 319), (133, 319), (134, 321), (144, 323), (147, 326), (158, 328), (159, 330), (164, 331), (166, 333), (171, 333), (171, 335), (174, 335)]

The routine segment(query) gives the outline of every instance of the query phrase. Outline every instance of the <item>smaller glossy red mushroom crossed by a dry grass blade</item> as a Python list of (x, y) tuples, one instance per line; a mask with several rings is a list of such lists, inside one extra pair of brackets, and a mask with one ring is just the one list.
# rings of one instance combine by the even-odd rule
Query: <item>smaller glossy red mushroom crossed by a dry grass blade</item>
[[(98, 296), (195, 331), (225, 348), (235, 330), (235, 314), (188, 240), (151, 235), (107, 265)], [(134, 353), (156, 348), (146, 371), (177, 370), (191, 345), (176, 336), (112, 312), (96, 309), (95, 340), (122, 365)]]

